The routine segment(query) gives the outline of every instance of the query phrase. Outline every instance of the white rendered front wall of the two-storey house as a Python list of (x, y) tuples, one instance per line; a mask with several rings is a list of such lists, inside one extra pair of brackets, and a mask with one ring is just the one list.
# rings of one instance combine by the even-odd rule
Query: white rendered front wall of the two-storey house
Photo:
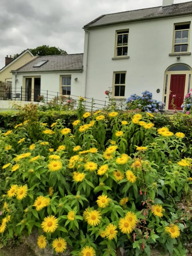
[[(192, 16), (93, 28), (89, 30), (89, 42), (88, 32), (85, 32), (85, 46), (88, 45), (84, 48), (84, 57), (88, 48), (86, 97), (104, 100), (105, 90), (112, 87), (113, 72), (126, 71), (125, 98), (149, 90), (154, 99), (162, 101), (164, 73), (168, 66), (184, 63), (192, 67), (192, 55), (181, 56), (180, 60), (169, 56), (177, 22), (192, 22)], [(112, 60), (116, 30), (127, 29), (130, 58)], [(192, 32), (189, 42), (189, 52), (192, 52)], [(158, 88), (160, 93), (156, 92)]]

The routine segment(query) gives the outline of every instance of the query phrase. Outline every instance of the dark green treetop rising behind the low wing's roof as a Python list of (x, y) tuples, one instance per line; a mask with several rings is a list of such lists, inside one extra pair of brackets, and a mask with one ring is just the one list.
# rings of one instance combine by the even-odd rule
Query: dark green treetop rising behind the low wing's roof
[[(65, 50), (60, 49), (55, 46), (42, 45), (38, 46), (34, 49), (29, 49), (34, 56), (46, 56), (46, 55), (61, 55), (67, 54)], [(20, 54), (22, 54), (25, 50), (23, 50)], [(14, 54), (13, 59), (17, 58), (20, 54)]]

